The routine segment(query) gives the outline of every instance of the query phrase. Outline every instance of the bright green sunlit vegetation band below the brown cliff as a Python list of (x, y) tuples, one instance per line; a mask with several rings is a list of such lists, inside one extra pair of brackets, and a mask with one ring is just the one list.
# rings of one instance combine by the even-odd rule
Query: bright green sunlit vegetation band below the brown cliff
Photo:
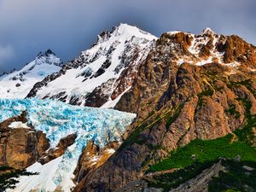
[[(233, 137), (229, 134), (226, 137), (214, 140), (195, 139), (185, 147), (173, 150), (169, 158), (150, 166), (149, 172), (184, 168), (192, 165), (195, 160), (203, 163), (205, 161), (216, 161), (219, 157), (232, 159), (238, 154), (241, 156), (241, 160), (256, 160), (256, 150), (247, 143), (231, 143)], [(191, 158), (192, 156), (195, 156), (195, 159)]]

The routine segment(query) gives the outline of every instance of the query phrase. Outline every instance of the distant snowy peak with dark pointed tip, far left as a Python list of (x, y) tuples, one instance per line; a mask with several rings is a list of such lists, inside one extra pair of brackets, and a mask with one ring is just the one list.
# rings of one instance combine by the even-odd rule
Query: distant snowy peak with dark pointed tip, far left
[(32, 62), (19, 71), (0, 77), (1, 98), (25, 98), (33, 85), (47, 75), (61, 70), (62, 61), (50, 49), (39, 53)]

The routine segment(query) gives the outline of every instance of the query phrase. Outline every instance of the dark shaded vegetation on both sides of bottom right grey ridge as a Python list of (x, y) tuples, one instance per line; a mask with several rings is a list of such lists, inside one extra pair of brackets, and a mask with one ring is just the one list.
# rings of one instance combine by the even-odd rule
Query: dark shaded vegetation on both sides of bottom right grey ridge
[[(167, 192), (198, 176), (201, 172), (213, 166), (214, 163), (217, 163), (217, 161), (205, 161), (203, 163), (195, 161), (191, 166), (179, 169), (176, 172), (154, 175), (153, 180), (148, 180), (148, 185), (164, 189), (164, 192)], [(208, 187), (209, 192), (255, 191), (256, 162), (221, 160), (219, 163), (224, 166), (225, 170), (220, 171), (218, 177), (212, 178)], [(248, 166), (253, 170), (247, 171), (243, 166)]]

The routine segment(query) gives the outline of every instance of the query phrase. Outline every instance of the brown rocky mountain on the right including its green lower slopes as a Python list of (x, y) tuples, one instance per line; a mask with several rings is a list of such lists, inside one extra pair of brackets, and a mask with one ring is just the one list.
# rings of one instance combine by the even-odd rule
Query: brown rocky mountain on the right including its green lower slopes
[(256, 48), (236, 35), (218, 35), (209, 28), (197, 35), (165, 32), (115, 105), (137, 113), (124, 143), (103, 166), (84, 172), (74, 191), (172, 191), (181, 183), (189, 186), (189, 179), (204, 170), (211, 172), (207, 169), (219, 157), (231, 160), (228, 165), (241, 160), (234, 177), (226, 165), (226, 175), (216, 181), (206, 176), (198, 187), (253, 191), (239, 170), (256, 168), (255, 69)]

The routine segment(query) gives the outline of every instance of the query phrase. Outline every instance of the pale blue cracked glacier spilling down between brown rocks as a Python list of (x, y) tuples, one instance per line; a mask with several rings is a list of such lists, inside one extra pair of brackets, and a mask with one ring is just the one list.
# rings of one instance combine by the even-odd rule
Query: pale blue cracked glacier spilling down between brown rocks
[(51, 148), (55, 148), (60, 139), (69, 134), (76, 133), (78, 137), (61, 157), (44, 166), (35, 163), (28, 167), (27, 171), (39, 174), (20, 177), (20, 183), (9, 191), (54, 191), (58, 186), (70, 191), (74, 186), (73, 171), (86, 144), (93, 140), (103, 148), (107, 143), (120, 142), (126, 127), (136, 118), (134, 113), (84, 108), (49, 99), (0, 99), (0, 121), (25, 110), (28, 124), (46, 133)]

